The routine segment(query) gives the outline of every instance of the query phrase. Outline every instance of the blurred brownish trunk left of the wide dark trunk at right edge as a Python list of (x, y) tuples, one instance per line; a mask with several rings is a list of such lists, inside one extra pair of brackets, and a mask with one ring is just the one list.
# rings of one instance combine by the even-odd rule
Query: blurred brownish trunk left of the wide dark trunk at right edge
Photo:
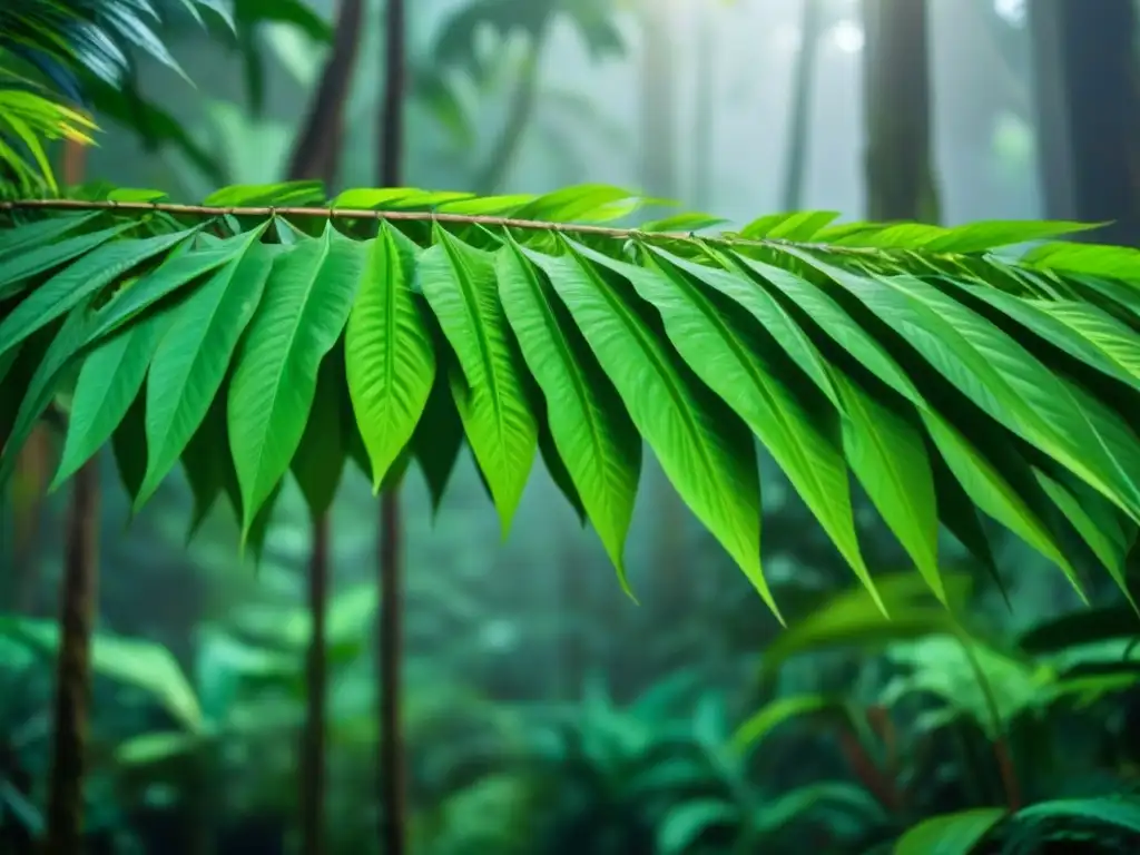
[(934, 222), (926, 0), (863, 0), (863, 22), (868, 217)]

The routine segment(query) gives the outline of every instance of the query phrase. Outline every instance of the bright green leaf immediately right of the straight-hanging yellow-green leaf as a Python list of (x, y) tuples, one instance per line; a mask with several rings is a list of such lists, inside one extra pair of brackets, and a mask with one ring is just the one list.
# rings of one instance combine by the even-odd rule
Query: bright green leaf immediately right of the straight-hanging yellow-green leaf
[(442, 229), (437, 241), (421, 259), (420, 283), (462, 368), (451, 393), (506, 537), (538, 450), (538, 421), (492, 256)]

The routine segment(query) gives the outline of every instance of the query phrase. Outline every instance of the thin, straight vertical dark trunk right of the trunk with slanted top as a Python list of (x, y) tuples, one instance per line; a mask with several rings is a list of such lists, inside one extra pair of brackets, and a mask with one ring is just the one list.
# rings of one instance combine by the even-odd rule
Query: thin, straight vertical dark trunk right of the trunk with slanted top
[[(404, 171), (404, 98), (407, 91), (407, 31), (404, 0), (388, 0), (384, 32), (384, 90), (380, 111), (380, 182), (399, 187)], [(380, 846), (384, 855), (407, 853), (407, 783), (401, 712), (404, 692), (404, 591), (401, 579), (399, 483), (391, 484), (380, 499), (377, 548), (377, 594), (380, 626), (376, 632), (377, 701), (380, 743), (376, 764), (381, 803)]]

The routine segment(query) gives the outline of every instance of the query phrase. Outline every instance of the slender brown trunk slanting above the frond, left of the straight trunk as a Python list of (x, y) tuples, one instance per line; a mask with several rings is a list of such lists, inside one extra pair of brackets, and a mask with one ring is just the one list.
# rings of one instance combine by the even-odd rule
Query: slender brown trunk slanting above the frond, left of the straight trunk
[[(363, 23), (363, 0), (342, 0), (336, 16), (333, 49), (325, 62), (312, 106), (290, 157), (290, 180), (319, 179), (324, 181), (329, 196), (340, 171), (344, 117), (352, 72), (360, 49)], [(328, 705), (326, 616), (331, 555), (328, 514), (321, 514), (312, 521), (312, 551), (309, 555), (309, 614), (312, 630), (306, 652), (308, 698), (298, 781), (301, 855), (320, 855), (325, 850)]]

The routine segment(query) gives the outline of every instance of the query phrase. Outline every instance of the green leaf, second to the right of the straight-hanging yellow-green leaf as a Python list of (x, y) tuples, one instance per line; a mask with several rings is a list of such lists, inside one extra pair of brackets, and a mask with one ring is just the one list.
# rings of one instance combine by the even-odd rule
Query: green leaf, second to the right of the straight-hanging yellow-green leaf
[(573, 319), (530, 259), (543, 260), (514, 242), (498, 251), (503, 309), (546, 399), (557, 457), (633, 596), (624, 551), (641, 477), (641, 438)]

